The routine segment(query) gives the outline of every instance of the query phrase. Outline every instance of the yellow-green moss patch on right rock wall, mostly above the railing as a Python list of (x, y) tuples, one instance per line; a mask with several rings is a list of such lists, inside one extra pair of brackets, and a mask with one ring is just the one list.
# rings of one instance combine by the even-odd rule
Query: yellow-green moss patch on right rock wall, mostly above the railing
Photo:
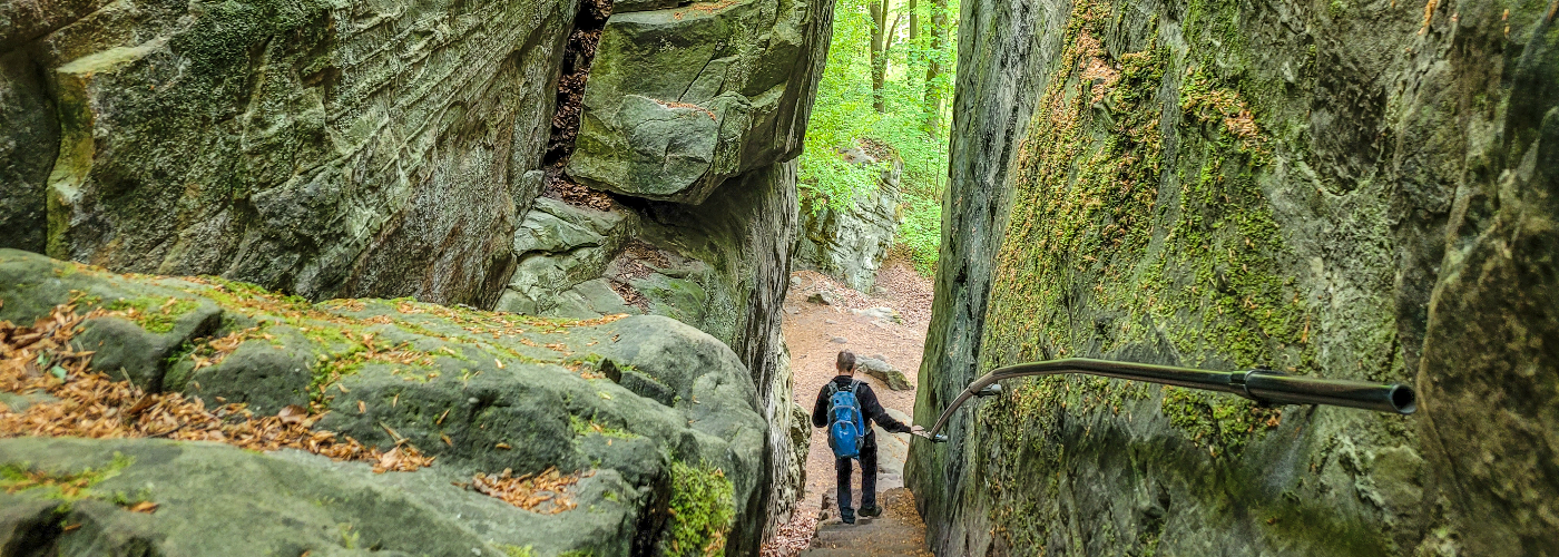
[[(1194, 9), (1202, 8), (1233, 9)], [(1213, 22), (1207, 11), (1194, 17)], [(1236, 28), (1219, 16), (1199, 33)], [(1271, 161), (1257, 111), (1222, 80), (1175, 67), (1157, 39), (1112, 58), (1105, 36), (1108, 12), (1076, 5), (1059, 70), (1038, 103), (1046, 120), (1021, 144), (982, 364), (1099, 356), (1160, 335), (1186, 365), (1313, 364), (1306, 306), (1281, 271), (1291, 253), (1257, 181)], [(1182, 119), (1166, 119), (1165, 105), (1179, 106)], [(1174, 122), (1182, 142), (1177, 159), (1166, 161), (1160, 126)], [(1165, 184), (1179, 187), (1161, 192)], [(1040, 384), (1060, 384), (1030, 392), (1040, 404), (1073, 410), (1118, 409), (1146, 393), (1085, 379)], [(1238, 449), (1236, 437), (1271, 423), (1236, 398), (1175, 401), (1166, 412), (1183, 420), (1174, 423), (1218, 443), (1214, 454)], [(1213, 423), (1211, 415), (1233, 421), (1213, 420), (1218, 435), (1193, 428)]]

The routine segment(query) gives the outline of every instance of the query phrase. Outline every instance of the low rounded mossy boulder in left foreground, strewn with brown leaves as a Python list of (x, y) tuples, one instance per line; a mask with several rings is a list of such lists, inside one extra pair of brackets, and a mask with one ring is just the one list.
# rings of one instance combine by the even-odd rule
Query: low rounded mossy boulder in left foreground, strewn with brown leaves
[[(122, 276), (0, 250), (0, 320), (31, 323), (65, 303), (106, 312), (75, 339), (75, 349), (97, 353), (100, 371), (209, 407), (329, 409), (318, 428), (382, 449), (408, 443), (435, 462), (374, 474), (369, 463), (295, 449), (0, 440), (6, 548), (628, 555), (689, 543), (686, 532), (703, 535), (692, 540), (700, 548), (761, 532), (770, 432), (756, 388), (736, 353), (666, 317), (546, 320), (407, 300), (310, 304), (242, 282)], [(460, 487), (474, 473), (549, 468), (582, 473), (561, 495), (574, 506), (555, 513)], [(12, 473), (90, 485), (67, 493), (47, 481), (11, 484)], [(156, 513), (122, 509), (139, 501)]]

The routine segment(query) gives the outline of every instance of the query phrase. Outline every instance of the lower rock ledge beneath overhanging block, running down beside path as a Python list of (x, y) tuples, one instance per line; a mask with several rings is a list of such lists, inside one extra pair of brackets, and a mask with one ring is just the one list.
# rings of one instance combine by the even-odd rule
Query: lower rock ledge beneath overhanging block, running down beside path
[[(538, 200), (516, 236), (525, 256), (497, 306), (571, 318), (666, 315), (730, 345), (770, 423), (770, 523), (789, 515), (795, 499), (784, 495), (801, 485), (792, 484), (800, 479), (787, 434), (795, 415), (780, 337), (797, 229), (795, 164), (731, 178), (702, 204), (620, 198), (597, 211)], [(756, 551), (756, 538), (733, 541), (751, 541)]]

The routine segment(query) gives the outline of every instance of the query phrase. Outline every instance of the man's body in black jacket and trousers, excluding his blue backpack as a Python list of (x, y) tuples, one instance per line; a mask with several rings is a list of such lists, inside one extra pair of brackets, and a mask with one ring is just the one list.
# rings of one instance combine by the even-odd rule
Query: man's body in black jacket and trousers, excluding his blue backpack
[[(850, 384), (856, 382), (856, 354), (847, 351), (839, 353), (839, 359), (834, 362), (839, 368), (839, 376), (831, 382), (836, 390), (850, 388)], [(817, 392), (817, 404), (812, 406), (812, 426), (828, 428), (828, 404), (829, 404), (829, 385), (823, 385)], [(856, 401), (861, 404), (861, 415), (867, 420), (862, 426), (865, 428), (865, 440), (861, 443), (861, 516), (878, 516), (882, 509), (876, 506), (876, 432), (871, 429), (871, 423), (876, 421), (882, 429), (895, 434), (915, 432), (917, 428), (906, 426), (893, 417), (882, 410), (882, 404), (878, 403), (876, 393), (871, 392), (871, 385), (861, 382), (856, 385)], [(839, 518), (845, 524), (856, 523), (856, 513), (851, 507), (850, 499), (850, 460), (853, 459), (834, 459), (834, 471), (839, 479)]]

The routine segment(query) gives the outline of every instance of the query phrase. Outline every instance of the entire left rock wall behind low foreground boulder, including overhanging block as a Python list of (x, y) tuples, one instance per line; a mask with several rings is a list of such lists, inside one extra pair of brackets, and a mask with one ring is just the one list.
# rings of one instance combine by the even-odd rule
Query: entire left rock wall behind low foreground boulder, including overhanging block
[(0, 248), (310, 301), (673, 317), (748, 370), (773, 428), (742, 513), (783, 521), (804, 449), (778, 307), (833, 5), (0, 6)]

